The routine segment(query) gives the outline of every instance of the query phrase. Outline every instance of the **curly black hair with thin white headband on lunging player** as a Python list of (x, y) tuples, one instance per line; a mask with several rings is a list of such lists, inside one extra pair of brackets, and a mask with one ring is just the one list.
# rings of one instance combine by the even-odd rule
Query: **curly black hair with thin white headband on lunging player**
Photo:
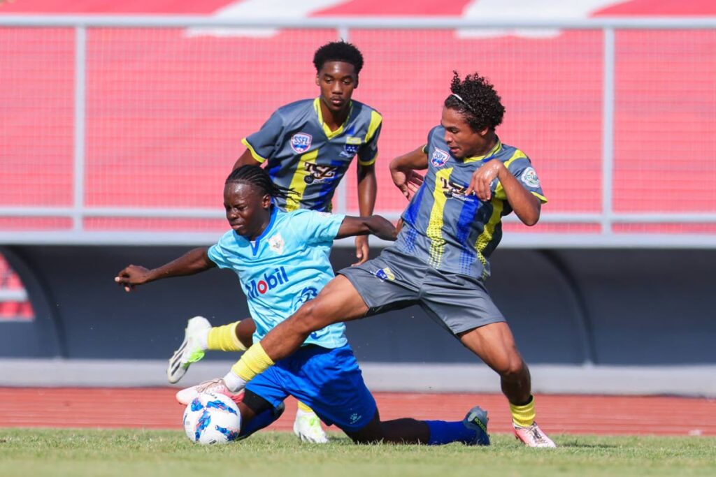
[(468, 74), (464, 80), (458, 72), (453, 71), (450, 82), (450, 94), (445, 99), (445, 107), (463, 113), (473, 131), (481, 131), (485, 127), (495, 129), (502, 123), (505, 107), (493, 85), (477, 73)]

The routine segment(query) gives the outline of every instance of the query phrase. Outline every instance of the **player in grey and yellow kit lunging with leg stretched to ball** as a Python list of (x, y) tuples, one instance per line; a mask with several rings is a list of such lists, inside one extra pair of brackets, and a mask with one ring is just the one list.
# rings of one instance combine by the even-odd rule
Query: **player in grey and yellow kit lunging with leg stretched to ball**
[[(340, 270), (316, 299), (254, 343), (224, 378), (230, 390), (293, 353), (313, 330), (420, 305), (500, 375), (516, 436), (527, 446), (554, 447), (535, 423), (529, 370), (484, 284), (501, 218), (515, 212), (534, 225), (546, 198), (530, 160), (495, 134), (505, 109), (492, 84), (455, 73), (450, 89), (427, 144), (390, 164), (410, 199), (397, 242)], [(425, 169), (424, 179), (415, 172)]]

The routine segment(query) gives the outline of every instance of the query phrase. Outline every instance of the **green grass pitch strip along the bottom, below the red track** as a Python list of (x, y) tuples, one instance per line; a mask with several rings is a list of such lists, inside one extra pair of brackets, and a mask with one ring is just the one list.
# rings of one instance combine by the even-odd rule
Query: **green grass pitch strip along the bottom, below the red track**
[(559, 448), (530, 449), (505, 434), (489, 448), (332, 437), (320, 446), (265, 432), (204, 447), (181, 431), (0, 429), (0, 476), (716, 476), (716, 438), (557, 435)]

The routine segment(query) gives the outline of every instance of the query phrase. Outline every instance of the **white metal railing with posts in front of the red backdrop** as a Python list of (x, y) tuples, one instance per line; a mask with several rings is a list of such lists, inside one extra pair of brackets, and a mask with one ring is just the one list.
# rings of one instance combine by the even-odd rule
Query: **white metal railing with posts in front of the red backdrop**
[[(87, 29), (92, 28), (278, 28), (332, 29), (338, 39), (349, 39), (356, 29), (561, 29), (599, 30), (603, 37), (603, 82), (601, 114), (601, 211), (598, 213), (544, 212), (541, 223), (598, 224), (601, 232), (582, 234), (509, 233), (503, 246), (508, 247), (716, 247), (714, 235), (614, 234), (615, 224), (629, 223), (704, 223), (716, 224), (712, 213), (616, 213), (613, 210), (614, 173), (614, 69), (615, 31), (619, 29), (716, 30), (716, 18), (659, 18), (624, 19), (596, 18), (569, 21), (541, 21), (531, 19), (477, 21), (464, 19), (427, 18), (309, 18), (239, 20), (196, 16), (0, 16), (0, 28), (52, 27), (74, 29), (74, 189), (72, 207), (2, 207), (0, 217), (72, 217), (72, 230), (49, 232), (12, 232), (0, 230), (0, 243), (29, 244), (185, 244), (213, 242), (216, 233), (204, 232), (94, 232), (84, 230), (87, 217), (159, 217), (159, 218), (221, 218), (222, 210), (200, 208), (163, 209), (161, 207), (89, 207), (84, 203), (85, 131), (86, 131), (86, 53)], [(715, 132), (716, 134), (716, 132)], [(345, 182), (345, 181), (344, 181)], [(337, 192), (337, 209), (345, 212), (345, 185)], [(378, 210), (395, 218), (400, 211)], [(505, 222), (510, 222), (510, 217)]]

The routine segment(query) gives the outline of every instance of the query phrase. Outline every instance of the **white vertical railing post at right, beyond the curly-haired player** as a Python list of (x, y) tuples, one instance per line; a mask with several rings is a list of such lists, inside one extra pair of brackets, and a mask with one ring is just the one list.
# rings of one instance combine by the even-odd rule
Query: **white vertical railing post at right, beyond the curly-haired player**
[(614, 29), (604, 29), (604, 91), (601, 105), (601, 233), (611, 235), (614, 187)]

